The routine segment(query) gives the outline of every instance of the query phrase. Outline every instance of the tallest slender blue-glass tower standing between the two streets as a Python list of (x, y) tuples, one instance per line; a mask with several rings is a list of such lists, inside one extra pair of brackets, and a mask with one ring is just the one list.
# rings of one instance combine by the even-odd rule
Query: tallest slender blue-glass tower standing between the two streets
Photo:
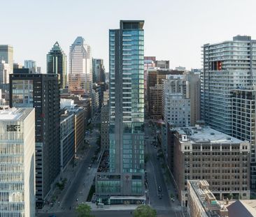
[(96, 192), (110, 203), (145, 194), (143, 24), (121, 20), (120, 29), (109, 30), (109, 172), (97, 174)]

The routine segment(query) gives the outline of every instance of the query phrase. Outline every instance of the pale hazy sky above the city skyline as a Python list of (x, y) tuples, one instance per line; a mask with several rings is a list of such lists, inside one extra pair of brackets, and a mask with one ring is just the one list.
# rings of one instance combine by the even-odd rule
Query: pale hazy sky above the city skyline
[(0, 44), (14, 59), (34, 59), (43, 72), (58, 40), (64, 52), (76, 36), (92, 47), (108, 71), (108, 29), (120, 20), (145, 20), (145, 56), (171, 68), (201, 67), (201, 45), (250, 35), (256, 39), (255, 0), (0, 0)]

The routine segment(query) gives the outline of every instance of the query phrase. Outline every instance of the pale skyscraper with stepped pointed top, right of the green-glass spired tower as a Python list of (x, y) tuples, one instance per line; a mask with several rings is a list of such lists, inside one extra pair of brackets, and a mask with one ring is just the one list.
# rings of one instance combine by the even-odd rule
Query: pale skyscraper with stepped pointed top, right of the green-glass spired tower
[(90, 93), (91, 88), (91, 47), (79, 36), (69, 50), (69, 89), (73, 93)]

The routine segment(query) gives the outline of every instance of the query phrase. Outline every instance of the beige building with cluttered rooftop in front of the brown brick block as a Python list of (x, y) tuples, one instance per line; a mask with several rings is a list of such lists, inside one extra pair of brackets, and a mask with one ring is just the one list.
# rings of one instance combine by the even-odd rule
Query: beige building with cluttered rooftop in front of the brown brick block
[(187, 181), (187, 212), (190, 217), (230, 217), (227, 208), (211, 193), (206, 180)]

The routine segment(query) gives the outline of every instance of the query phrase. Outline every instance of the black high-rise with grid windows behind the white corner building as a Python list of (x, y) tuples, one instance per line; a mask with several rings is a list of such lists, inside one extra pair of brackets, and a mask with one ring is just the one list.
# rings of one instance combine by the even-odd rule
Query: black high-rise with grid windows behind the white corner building
[(41, 207), (60, 170), (57, 75), (10, 75), (10, 107), (36, 109), (36, 204)]

